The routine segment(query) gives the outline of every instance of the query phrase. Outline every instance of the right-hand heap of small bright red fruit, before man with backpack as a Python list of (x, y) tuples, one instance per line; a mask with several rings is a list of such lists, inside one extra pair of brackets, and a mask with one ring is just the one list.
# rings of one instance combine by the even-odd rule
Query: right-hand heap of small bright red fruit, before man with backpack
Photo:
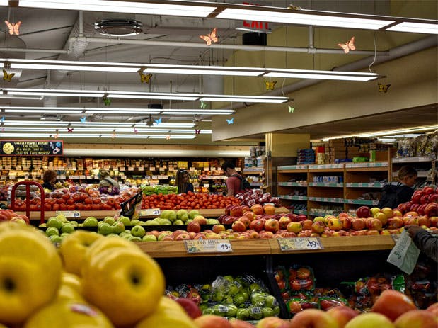
[(239, 205), (240, 200), (234, 196), (210, 195), (209, 193), (180, 193), (143, 196), (142, 208), (161, 208), (161, 210), (226, 208), (228, 205)]

